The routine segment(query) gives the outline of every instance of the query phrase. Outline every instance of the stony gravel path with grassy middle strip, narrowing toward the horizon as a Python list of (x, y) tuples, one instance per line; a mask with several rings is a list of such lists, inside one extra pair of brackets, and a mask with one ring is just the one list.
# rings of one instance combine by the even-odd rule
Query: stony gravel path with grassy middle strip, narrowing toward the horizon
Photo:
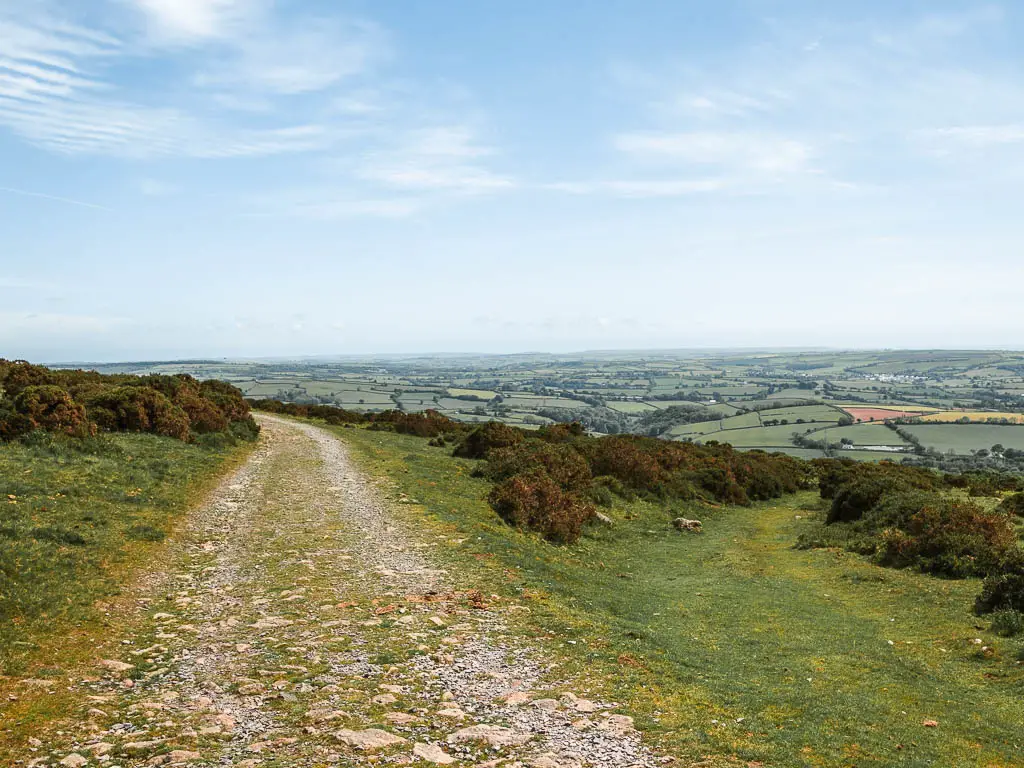
[[(26, 766), (654, 766), (613, 702), (542, 682), (504, 608), (432, 562), (341, 441), (262, 417), (153, 574), (78, 722)], [(578, 695), (579, 694), (579, 695)]]

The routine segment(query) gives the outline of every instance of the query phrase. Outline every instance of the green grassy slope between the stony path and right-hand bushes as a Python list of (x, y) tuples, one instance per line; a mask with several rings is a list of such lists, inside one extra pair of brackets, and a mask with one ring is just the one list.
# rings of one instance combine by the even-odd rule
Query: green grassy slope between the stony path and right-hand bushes
[[(746, 509), (620, 504), (613, 526), (558, 548), (501, 523), (472, 463), (337, 431), (422, 505), (409, 514), (458, 531), (454, 557), (479, 564), (481, 589), (523, 599), (536, 636), (671, 754), (703, 766), (1022, 764), (1024, 652), (971, 614), (977, 582), (795, 549), (820, 524), (811, 494)], [(676, 532), (678, 514), (706, 532)]]

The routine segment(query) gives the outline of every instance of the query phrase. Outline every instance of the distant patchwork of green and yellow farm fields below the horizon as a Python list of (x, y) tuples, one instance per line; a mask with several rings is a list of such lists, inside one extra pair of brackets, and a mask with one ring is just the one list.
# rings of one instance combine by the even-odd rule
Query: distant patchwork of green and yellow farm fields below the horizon
[[(171, 371), (174, 364), (124, 364), (108, 371)], [(842, 450), (841, 437), (872, 444), (876, 433), (837, 428), (899, 419), (958, 429), (988, 420), (1024, 425), (1024, 354), (961, 351), (594, 352), (401, 356), (304, 361), (184, 362), (193, 375), (222, 378), (247, 396), (356, 411), (439, 411), (466, 422), (537, 427), (579, 421), (598, 434), (653, 434), (718, 440), (787, 452)], [(988, 425), (983, 425), (988, 426)], [(827, 429), (827, 433), (823, 430)], [(800, 447), (794, 433), (820, 443)], [(1006, 469), (1012, 459), (976, 452), (1012, 436), (923, 432), (924, 453), (896, 461), (942, 463), (953, 451), (979, 467)], [(833, 445), (835, 443), (835, 445)], [(909, 446), (895, 432), (884, 442)], [(827, 445), (827, 449), (824, 446)], [(912, 447), (912, 446), (910, 446)], [(930, 454), (928, 449), (934, 449)], [(975, 452), (975, 453), (972, 453)], [(847, 452), (853, 453), (853, 452)], [(859, 452), (863, 459), (869, 453)], [(998, 459), (998, 461), (997, 461)], [(1013, 460), (1016, 461), (1016, 460)], [(1000, 464), (1001, 462), (1001, 464)], [(1016, 464), (1014, 464), (1014, 468)], [(1020, 467), (1024, 471), (1024, 463)]]

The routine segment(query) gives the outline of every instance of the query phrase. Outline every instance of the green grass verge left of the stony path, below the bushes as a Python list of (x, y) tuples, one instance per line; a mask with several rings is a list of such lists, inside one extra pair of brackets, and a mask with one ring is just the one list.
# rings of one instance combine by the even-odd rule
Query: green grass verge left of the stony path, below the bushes
[(68, 675), (117, 632), (126, 586), (251, 450), (145, 434), (0, 444), (0, 741), (67, 715)]

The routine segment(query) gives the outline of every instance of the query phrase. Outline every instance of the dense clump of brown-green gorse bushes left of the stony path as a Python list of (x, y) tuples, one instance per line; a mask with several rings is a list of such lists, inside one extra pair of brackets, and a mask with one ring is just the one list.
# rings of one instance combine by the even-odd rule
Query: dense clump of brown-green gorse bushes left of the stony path
[(0, 439), (34, 430), (86, 438), (97, 431), (193, 440), (254, 439), (259, 427), (242, 392), (190, 376), (104, 376), (0, 359)]

